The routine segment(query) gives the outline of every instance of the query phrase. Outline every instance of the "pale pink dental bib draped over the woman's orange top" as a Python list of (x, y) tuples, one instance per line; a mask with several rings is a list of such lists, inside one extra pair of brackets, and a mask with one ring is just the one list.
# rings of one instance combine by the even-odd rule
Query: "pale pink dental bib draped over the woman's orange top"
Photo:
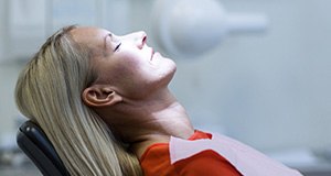
[(250, 146), (221, 134), (213, 134), (211, 140), (195, 141), (171, 136), (169, 145), (171, 164), (200, 152), (213, 150), (226, 158), (244, 176), (302, 176), (298, 170), (291, 169)]

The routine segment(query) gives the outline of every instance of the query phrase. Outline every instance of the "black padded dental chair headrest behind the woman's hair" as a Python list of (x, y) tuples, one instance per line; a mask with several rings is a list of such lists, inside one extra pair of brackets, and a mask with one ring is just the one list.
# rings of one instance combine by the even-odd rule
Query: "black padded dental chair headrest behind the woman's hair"
[(38, 124), (25, 121), (18, 131), (17, 143), (44, 176), (70, 175), (52, 143)]

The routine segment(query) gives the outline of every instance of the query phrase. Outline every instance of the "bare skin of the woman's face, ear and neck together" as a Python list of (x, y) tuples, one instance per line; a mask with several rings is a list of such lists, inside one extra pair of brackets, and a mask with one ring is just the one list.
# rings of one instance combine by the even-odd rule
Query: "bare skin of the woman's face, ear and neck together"
[(77, 43), (93, 50), (96, 80), (82, 92), (118, 139), (138, 157), (153, 143), (194, 133), (184, 108), (168, 85), (175, 73), (173, 61), (147, 45), (145, 32), (118, 36), (97, 28), (71, 31)]

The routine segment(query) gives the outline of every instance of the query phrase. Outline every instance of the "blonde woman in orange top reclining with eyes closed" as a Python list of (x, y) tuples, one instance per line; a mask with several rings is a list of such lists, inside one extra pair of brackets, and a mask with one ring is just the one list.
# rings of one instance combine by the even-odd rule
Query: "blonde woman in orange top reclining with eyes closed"
[(168, 89), (175, 64), (146, 42), (143, 32), (60, 30), (19, 77), (20, 111), (45, 131), (71, 175), (246, 175), (226, 152), (197, 150), (215, 135), (193, 129)]

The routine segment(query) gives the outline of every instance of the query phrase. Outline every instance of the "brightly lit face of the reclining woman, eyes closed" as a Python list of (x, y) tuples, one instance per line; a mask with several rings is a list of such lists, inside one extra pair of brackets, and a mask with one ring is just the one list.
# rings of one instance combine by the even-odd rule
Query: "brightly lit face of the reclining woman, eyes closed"
[(175, 72), (173, 61), (147, 45), (145, 32), (115, 35), (96, 28), (72, 31), (74, 40), (94, 51), (95, 84), (111, 85), (122, 96), (139, 98), (168, 86)]

